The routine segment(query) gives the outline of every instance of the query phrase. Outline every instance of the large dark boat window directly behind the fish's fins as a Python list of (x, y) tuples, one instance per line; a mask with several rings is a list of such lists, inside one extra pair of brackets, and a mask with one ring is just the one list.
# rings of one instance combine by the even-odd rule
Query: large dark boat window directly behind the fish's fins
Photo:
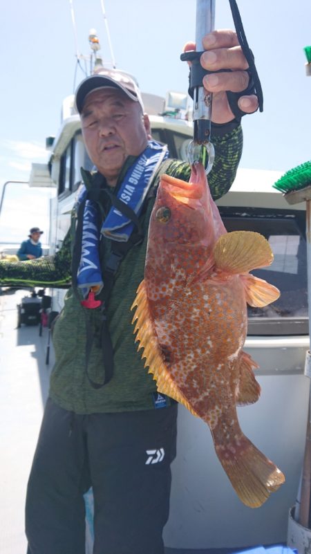
[(264, 308), (247, 308), (248, 334), (308, 334), (305, 212), (245, 207), (219, 207), (219, 211), (228, 231), (259, 232), (274, 252), (271, 266), (251, 273), (279, 288), (281, 296)]

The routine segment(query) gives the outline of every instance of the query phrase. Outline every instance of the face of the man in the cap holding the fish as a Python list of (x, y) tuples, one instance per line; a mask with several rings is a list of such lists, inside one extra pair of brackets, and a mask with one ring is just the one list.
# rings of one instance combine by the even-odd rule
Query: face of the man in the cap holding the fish
[(147, 146), (140, 104), (118, 89), (99, 89), (86, 97), (81, 120), (88, 156), (115, 186), (127, 156), (138, 156)]

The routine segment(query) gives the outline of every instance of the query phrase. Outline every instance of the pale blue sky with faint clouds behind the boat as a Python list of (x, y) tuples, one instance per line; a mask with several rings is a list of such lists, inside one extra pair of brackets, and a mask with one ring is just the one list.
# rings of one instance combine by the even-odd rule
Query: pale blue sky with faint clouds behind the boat
[[(303, 52), (311, 44), (311, 3), (238, 6), (264, 93), (263, 113), (243, 118), (241, 167), (285, 171), (311, 158), (311, 77)], [(101, 0), (73, 0), (73, 7), (79, 52), (88, 55), (95, 28), (104, 62), (111, 62)], [(105, 0), (104, 7), (117, 68), (133, 73), (145, 92), (187, 91), (179, 56), (195, 37), (196, 0)], [(45, 138), (57, 133), (62, 100), (84, 77), (76, 72), (69, 0), (6, 1), (1, 19), (0, 187), (27, 180), (31, 162), (47, 160)], [(216, 0), (216, 28), (233, 28), (227, 0)]]

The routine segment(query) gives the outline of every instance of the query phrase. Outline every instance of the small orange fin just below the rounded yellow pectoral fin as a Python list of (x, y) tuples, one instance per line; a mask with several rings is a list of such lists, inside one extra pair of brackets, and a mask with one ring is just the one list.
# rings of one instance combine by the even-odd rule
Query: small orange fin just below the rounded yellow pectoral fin
[(263, 308), (271, 302), (275, 302), (280, 296), (279, 288), (270, 285), (264, 279), (259, 279), (254, 275), (241, 275), (243, 281), (246, 302), (254, 308)]

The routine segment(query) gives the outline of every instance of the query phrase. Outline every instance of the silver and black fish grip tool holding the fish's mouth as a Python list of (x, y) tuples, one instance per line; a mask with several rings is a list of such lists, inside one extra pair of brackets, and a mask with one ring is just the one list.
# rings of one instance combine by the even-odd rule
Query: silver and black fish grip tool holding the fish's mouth
[(202, 78), (205, 71), (200, 64), (204, 50), (202, 40), (215, 26), (215, 0), (196, 0), (196, 50), (181, 55), (181, 59), (191, 62), (189, 91), (194, 99), (193, 121), (194, 138), (189, 142), (189, 163), (201, 161), (209, 173), (214, 163), (215, 151), (211, 142), (211, 102), (212, 93), (205, 90)]

